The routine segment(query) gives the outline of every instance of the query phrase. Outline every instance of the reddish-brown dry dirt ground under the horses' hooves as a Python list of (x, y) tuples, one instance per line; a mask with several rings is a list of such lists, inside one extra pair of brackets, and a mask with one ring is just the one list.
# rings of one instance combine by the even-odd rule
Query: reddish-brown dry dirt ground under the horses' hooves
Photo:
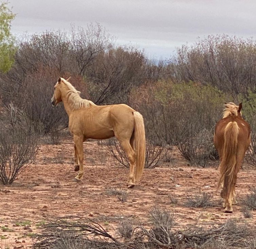
[[(120, 166), (96, 141), (84, 143), (85, 175), (80, 183), (72, 182), (76, 175), (73, 163), (73, 143), (41, 145), (36, 163), (27, 167), (10, 186), (0, 185), (0, 248), (29, 248), (32, 237), (47, 219), (54, 216), (80, 215), (97, 219), (112, 235), (118, 217), (128, 216), (136, 224), (147, 221), (151, 207), (160, 205), (177, 214), (177, 226), (198, 223), (205, 226), (228, 218), (244, 220), (241, 206), (234, 212), (223, 212), (218, 190), (218, 170), (186, 166), (178, 153), (172, 153), (169, 163), (145, 169), (138, 186), (126, 189), (128, 168)], [(237, 181), (238, 199), (250, 186), (255, 186), (255, 171), (243, 169)], [(106, 193), (108, 188), (127, 190), (126, 202)], [(188, 194), (199, 190), (213, 194), (216, 206), (188, 208)], [(172, 200), (178, 203), (173, 204)], [(256, 224), (256, 211), (250, 224)], [(3, 227), (7, 228), (4, 229)]]

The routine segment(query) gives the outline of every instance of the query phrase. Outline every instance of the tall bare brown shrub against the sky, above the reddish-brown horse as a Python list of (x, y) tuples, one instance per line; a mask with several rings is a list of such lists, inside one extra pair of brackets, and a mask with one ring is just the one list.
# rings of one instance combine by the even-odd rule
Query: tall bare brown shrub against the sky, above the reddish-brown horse
[(169, 75), (177, 81), (197, 81), (220, 90), (245, 94), (256, 81), (256, 41), (227, 35), (208, 36), (204, 40), (177, 49)]

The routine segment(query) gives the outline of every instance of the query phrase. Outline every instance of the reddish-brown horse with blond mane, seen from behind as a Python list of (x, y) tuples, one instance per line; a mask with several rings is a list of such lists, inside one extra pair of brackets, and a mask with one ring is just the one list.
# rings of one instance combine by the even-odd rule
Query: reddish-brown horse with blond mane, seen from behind
[(234, 103), (225, 104), (223, 118), (215, 126), (214, 145), (220, 157), (220, 178), (218, 188), (222, 185), (221, 197), (226, 213), (232, 213), (232, 204), (236, 204), (235, 184), (245, 151), (251, 136), (250, 125), (242, 119), (241, 108)]

